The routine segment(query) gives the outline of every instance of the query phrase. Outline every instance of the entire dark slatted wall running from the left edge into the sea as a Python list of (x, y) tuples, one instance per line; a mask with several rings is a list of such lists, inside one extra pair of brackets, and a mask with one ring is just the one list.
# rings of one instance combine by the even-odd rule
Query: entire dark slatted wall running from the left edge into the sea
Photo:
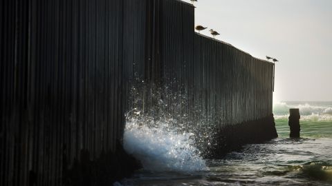
[(120, 143), (136, 78), (185, 95), (165, 101), (192, 123), (211, 116), (230, 146), (276, 135), (273, 64), (195, 33), (189, 3), (5, 0), (0, 28), (0, 185), (129, 175), (138, 165)]

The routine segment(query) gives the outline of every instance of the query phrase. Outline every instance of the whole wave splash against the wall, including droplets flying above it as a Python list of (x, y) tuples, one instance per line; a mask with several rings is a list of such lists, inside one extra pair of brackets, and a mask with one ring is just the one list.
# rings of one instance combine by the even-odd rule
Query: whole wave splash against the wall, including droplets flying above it
[[(165, 94), (165, 92), (167, 92)], [(213, 145), (208, 117), (190, 121), (185, 94), (171, 93), (154, 85), (131, 88), (132, 110), (126, 114), (124, 149), (151, 171), (204, 171), (203, 156)], [(193, 113), (192, 113), (193, 114)]]

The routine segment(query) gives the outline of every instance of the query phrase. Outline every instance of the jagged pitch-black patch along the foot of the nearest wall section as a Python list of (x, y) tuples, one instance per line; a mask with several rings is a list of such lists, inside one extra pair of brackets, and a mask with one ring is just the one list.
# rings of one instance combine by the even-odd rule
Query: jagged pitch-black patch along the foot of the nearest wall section
[[(68, 165), (66, 155), (63, 156), (63, 174), (61, 185), (110, 185), (111, 183), (129, 178), (133, 170), (140, 169), (142, 165), (124, 151), (122, 145), (117, 144), (116, 153), (102, 152), (99, 158), (91, 161), (91, 155), (87, 150), (81, 150), (80, 161), (74, 160), (73, 165)], [(29, 172), (29, 185), (37, 185), (37, 174)]]

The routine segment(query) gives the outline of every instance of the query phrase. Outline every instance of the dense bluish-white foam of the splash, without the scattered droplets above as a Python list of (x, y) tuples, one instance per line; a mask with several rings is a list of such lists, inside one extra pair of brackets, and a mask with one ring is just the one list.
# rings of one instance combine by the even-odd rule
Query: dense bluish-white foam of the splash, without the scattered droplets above
[[(180, 132), (171, 118), (127, 118), (124, 149), (151, 171), (193, 172), (207, 170), (194, 146), (194, 134)], [(174, 126), (174, 125), (172, 125)]]

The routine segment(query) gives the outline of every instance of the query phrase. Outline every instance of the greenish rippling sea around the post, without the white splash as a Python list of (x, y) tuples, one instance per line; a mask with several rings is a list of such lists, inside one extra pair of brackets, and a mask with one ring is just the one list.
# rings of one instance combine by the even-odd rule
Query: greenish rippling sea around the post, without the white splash
[[(301, 138), (288, 137), (288, 110), (291, 107), (300, 109)], [(206, 159), (207, 169), (141, 169), (132, 178), (122, 180), (119, 184), (332, 185), (332, 102), (280, 103), (275, 105), (274, 114), (278, 138), (265, 143), (244, 145), (243, 149), (230, 152), (221, 159)], [(142, 136), (147, 137), (145, 134)], [(156, 138), (158, 135), (151, 140), (145, 138), (142, 145), (147, 146), (149, 141)], [(158, 149), (167, 151), (167, 148), (161, 146), (154, 146), (154, 152)], [(174, 163), (167, 158), (160, 161), (160, 165)]]

